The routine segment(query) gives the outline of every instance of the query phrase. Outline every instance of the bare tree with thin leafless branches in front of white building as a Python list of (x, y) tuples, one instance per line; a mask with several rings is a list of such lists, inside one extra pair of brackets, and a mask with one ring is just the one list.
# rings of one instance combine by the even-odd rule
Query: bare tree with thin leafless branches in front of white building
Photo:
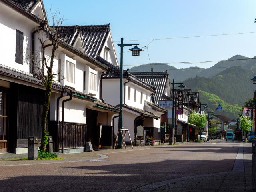
[[(50, 9), (50, 22), (48, 31), (45, 29), (37, 33), (38, 41), (40, 42), (41, 50), (36, 50), (32, 54), (25, 54), (25, 62), (31, 68), (34, 74), (42, 80), (45, 86), (44, 105), (41, 121), (41, 146), (40, 150), (46, 151), (46, 144), (48, 143), (48, 132), (46, 129), (47, 115), (50, 107), (50, 98), (52, 92), (52, 83), (55, 77), (60, 72), (53, 72), (55, 52), (58, 48), (58, 41), (62, 34), (63, 28), (63, 16), (60, 16), (59, 9), (56, 12), (52, 12)], [(49, 44), (50, 41), (50, 44)], [(47, 44), (48, 42), (48, 44)], [(46, 49), (51, 48), (50, 54), (47, 54)], [(49, 52), (49, 51), (48, 51)]]

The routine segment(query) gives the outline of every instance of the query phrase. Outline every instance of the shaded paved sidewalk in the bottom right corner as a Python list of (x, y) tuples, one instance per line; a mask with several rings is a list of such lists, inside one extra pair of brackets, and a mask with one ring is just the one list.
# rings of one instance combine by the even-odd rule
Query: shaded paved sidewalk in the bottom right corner
[(248, 143), (240, 145), (233, 170), (230, 172), (175, 178), (143, 186), (134, 192), (251, 192), (252, 154), (250, 146), (251, 144)]

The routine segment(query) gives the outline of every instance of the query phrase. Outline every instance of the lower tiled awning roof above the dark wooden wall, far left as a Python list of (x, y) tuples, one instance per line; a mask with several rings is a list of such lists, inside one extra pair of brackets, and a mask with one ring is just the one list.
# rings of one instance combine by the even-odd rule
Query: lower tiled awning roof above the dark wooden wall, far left
[[(40, 86), (44, 86), (42, 80), (35, 78), (33, 74), (17, 70), (11, 67), (7, 67), (2, 64), (0, 64), (0, 74), (11, 78), (15, 78), (17, 80), (22, 80), (33, 84), (38, 84)], [(62, 90), (62, 85), (59, 82), (53, 82), (52, 88), (56, 90)]]

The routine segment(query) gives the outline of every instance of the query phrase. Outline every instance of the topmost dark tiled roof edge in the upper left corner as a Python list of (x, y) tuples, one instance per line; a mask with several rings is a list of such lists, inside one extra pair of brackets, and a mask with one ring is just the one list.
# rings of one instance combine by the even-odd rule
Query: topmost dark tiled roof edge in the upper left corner
[(16, 11), (22, 13), (26, 17), (39, 22), (41, 25), (44, 24), (44, 21), (32, 14), (30, 11), (33, 6), (36, 4), (36, 0), (0, 0), (7, 4), (8, 6), (12, 7)]

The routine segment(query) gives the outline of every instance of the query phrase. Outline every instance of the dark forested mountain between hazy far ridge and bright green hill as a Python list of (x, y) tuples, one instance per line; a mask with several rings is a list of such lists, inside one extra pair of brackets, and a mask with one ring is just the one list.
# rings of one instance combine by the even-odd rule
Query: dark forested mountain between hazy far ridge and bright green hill
[(253, 72), (247, 69), (230, 67), (212, 78), (198, 76), (189, 78), (184, 82), (184, 85), (194, 91), (202, 90), (216, 94), (225, 102), (242, 106), (246, 100), (253, 96), (256, 89), (250, 80), (252, 77)]

